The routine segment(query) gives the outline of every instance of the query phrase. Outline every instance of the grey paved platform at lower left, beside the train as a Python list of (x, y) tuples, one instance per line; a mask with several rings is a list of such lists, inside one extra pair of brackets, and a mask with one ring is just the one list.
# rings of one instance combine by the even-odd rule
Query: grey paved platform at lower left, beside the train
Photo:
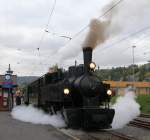
[(0, 112), (0, 140), (71, 140), (50, 125), (15, 120), (10, 112)]

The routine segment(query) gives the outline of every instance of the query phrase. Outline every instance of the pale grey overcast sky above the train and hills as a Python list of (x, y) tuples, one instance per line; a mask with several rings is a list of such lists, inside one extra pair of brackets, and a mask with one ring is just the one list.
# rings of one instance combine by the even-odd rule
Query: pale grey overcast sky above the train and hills
[[(82, 43), (89, 28), (74, 35), (112, 3), (110, 0), (56, 0), (50, 17), (54, 2), (0, 0), (0, 73), (7, 70), (8, 64), (17, 75), (42, 75), (56, 63), (65, 68), (75, 60), (83, 63)], [(111, 17), (108, 38), (93, 52), (93, 61), (100, 68), (132, 64), (133, 45), (136, 45), (136, 64), (150, 60), (150, 2), (134, 2), (124, 0), (107, 15)]]

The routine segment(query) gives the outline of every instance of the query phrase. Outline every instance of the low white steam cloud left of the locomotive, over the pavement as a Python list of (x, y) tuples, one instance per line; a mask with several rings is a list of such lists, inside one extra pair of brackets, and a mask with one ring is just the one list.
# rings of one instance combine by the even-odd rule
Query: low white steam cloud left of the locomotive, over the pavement
[(14, 119), (33, 124), (50, 124), (55, 127), (65, 127), (66, 124), (61, 114), (49, 115), (33, 106), (17, 106), (13, 108), (11, 115)]

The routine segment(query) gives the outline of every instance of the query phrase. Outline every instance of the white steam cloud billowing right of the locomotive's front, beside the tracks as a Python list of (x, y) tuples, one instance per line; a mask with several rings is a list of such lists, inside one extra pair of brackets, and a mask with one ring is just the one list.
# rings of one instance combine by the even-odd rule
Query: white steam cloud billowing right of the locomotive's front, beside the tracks
[(113, 105), (115, 109), (115, 116), (112, 122), (113, 129), (124, 127), (140, 115), (140, 105), (135, 99), (136, 96), (133, 91), (128, 91), (125, 95), (118, 97), (116, 103)]

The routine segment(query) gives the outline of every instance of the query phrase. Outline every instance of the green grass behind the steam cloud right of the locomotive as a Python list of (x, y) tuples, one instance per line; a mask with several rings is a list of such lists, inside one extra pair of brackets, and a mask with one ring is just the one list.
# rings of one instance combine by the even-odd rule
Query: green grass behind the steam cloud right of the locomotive
[[(112, 97), (112, 104), (116, 102), (117, 97), (118, 96)], [(140, 104), (140, 110), (142, 113), (150, 114), (150, 94), (138, 95), (136, 101)]]

